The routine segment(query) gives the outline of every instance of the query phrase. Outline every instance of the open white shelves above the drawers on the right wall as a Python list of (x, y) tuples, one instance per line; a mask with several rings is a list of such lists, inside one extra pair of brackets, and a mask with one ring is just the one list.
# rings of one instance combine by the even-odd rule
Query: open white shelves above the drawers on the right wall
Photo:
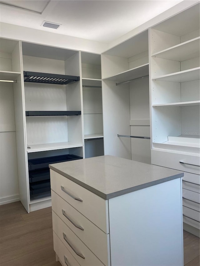
[(199, 35), (199, 4), (150, 29), (153, 148), (200, 152)]

